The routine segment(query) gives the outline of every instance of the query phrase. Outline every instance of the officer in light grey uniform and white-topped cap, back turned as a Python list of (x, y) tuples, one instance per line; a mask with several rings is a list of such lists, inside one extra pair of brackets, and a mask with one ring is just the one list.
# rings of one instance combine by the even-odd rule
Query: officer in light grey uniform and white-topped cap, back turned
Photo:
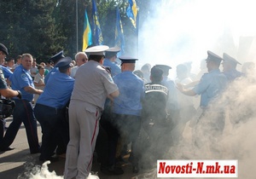
[(70, 141), (67, 145), (65, 179), (89, 176), (104, 102), (107, 96), (113, 98), (119, 95), (113, 78), (102, 66), (107, 49), (106, 45), (86, 49), (89, 61), (76, 73), (68, 110)]

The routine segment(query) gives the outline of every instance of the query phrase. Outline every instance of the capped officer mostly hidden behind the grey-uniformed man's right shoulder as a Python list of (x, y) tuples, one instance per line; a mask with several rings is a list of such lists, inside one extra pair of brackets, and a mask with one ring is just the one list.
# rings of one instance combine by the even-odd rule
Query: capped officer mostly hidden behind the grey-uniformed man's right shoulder
[(112, 47), (106, 51), (103, 66), (110, 67), (112, 77), (121, 72), (121, 68), (116, 63), (117, 53), (119, 53), (120, 50), (121, 49), (119, 47)]

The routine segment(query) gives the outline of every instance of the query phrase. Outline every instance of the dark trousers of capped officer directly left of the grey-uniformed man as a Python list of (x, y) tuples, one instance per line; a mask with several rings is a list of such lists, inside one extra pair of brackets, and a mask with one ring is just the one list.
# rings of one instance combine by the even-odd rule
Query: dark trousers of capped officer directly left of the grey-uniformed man
[[(59, 143), (67, 147), (68, 138), (62, 137), (65, 109), (56, 109), (36, 104), (34, 110), (43, 133), (40, 159), (50, 159)], [(68, 131), (66, 135), (68, 136)]]

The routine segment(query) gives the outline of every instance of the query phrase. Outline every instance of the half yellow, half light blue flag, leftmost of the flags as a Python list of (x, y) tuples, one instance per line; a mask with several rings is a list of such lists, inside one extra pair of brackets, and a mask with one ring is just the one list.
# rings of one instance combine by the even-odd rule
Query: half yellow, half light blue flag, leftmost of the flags
[(83, 34), (83, 51), (92, 44), (90, 23), (88, 20), (87, 12), (84, 13), (84, 34)]

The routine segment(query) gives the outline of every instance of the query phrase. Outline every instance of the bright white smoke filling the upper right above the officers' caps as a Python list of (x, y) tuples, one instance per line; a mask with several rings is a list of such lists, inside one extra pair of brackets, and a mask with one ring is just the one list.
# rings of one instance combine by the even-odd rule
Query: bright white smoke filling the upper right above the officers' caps
[[(153, 2), (147, 20), (140, 20), (139, 61), (175, 67), (193, 61), (192, 72), (199, 71), (207, 50), (237, 58), (241, 63), (253, 61), (247, 39), (256, 34), (255, 2), (251, 0), (162, 0)], [(142, 9), (143, 7), (140, 7)], [(144, 22), (144, 23), (143, 23)], [(243, 40), (241, 42), (241, 40)], [(253, 41), (254, 42), (254, 41)], [(249, 52), (251, 51), (251, 52)]]

